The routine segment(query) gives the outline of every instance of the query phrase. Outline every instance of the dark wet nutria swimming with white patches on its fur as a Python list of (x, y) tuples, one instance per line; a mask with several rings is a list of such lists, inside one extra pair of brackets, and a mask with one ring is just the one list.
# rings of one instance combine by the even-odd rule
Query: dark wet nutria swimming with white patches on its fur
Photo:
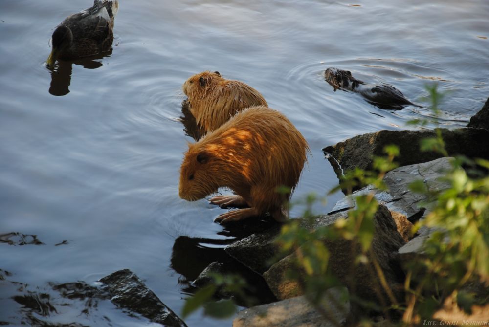
[(421, 107), (406, 99), (397, 88), (388, 84), (366, 84), (354, 78), (348, 70), (328, 68), (324, 72), (324, 79), (335, 92), (341, 89), (360, 93), (368, 102), (381, 109), (402, 109), (407, 105)]

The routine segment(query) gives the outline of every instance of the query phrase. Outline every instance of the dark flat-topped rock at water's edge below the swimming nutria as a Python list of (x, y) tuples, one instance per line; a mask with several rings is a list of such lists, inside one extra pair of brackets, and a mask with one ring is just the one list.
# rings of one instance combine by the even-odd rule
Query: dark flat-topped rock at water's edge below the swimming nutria
[[(489, 131), (472, 127), (442, 129), (442, 135), (449, 155), (463, 154), (470, 158), (489, 159)], [(342, 171), (347, 172), (356, 167), (372, 170), (372, 157), (384, 156), (383, 148), (390, 144), (395, 144), (400, 149), (400, 156), (396, 157), (396, 162), (400, 166), (440, 158), (440, 153), (420, 151), (420, 141), (435, 136), (435, 131), (383, 130), (352, 137), (334, 146), (328, 146), (323, 151), (341, 179)]]

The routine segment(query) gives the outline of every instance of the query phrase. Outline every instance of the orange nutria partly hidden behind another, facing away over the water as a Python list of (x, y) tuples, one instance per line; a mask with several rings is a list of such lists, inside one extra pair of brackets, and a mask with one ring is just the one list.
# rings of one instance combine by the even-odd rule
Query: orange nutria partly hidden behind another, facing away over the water
[(190, 102), (190, 112), (206, 131), (214, 131), (244, 108), (267, 106), (256, 89), (240, 81), (226, 80), (218, 71), (195, 74), (182, 88)]

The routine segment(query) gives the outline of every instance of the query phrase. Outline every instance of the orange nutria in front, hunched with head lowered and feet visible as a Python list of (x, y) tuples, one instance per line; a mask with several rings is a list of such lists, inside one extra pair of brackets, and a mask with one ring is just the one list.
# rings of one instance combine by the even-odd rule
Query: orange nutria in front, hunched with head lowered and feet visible
[[(309, 146), (280, 112), (254, 106), (238, 112), (220, 128), (189, 143), (180, 168), (179, 196), (199, 200), (228, 187), (236, 195), (210, 199), (222, 207), (249, 206), (220, 215), (226, 223), (269, 212), (286, 219), (284, 200), (299, 181)], [(277, 188), (289, 188), (286, 195)]]

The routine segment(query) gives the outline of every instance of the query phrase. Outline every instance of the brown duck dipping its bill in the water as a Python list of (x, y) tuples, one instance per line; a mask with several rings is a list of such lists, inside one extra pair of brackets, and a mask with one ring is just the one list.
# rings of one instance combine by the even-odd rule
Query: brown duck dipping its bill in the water
[(118, 0), (95, 0), (92, 7), (68, 16), (53, 32), (47, 67), (59, 59), (73, 60), (109, 50), (118, 10)]

